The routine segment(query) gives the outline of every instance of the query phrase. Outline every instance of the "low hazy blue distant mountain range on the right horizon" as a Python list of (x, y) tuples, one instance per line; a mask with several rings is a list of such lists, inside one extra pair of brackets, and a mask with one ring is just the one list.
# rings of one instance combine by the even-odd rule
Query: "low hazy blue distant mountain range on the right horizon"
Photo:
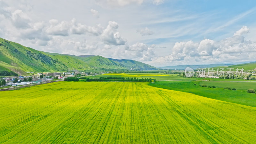
[(226, 67), (226, 66), (232, 66), (231, 64), (210, 64), (210, 65), (177, 65), (177, 66), (166, 66), (166, 67), (160, 67), (161, 69), (182, 69), (185, 70), (185, 68), (212, 68), (212, 67)]

